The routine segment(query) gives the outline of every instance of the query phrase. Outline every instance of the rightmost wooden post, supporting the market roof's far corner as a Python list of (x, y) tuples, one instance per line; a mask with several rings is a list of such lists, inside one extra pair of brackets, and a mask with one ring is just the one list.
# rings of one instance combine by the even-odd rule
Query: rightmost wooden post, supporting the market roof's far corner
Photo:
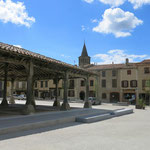
[(87, 78), (85, 80), (86, 84), (86, 96), (85, 96), (85, 103), (84, 103), (84, 108), (91, 108), (91, 102), (89, 101), (89, 75), (87, 75)]

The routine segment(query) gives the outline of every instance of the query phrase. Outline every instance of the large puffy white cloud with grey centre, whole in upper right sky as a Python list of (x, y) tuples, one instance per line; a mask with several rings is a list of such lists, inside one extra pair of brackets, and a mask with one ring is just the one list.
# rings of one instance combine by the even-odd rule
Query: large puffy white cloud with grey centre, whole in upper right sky
[(115, 37), (131, 35), (132, 29), (143, 23), (131, 12), (125, 12), (120, 8), (106, 9), (102, 21), (93, 28), (93, 31), (105, 34), (114, 34)]

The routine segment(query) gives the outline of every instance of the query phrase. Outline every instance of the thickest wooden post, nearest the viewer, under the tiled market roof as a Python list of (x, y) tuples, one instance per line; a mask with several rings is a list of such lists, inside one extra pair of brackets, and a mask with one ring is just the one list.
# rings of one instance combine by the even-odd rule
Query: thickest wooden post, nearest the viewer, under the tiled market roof
[(33, 74), (34, 74), (34, 67), (32, 61), (29, 62), (28, 76), (27, 76), (27, 100), (26, 100), (26, 107), (24, 110), (24, 114), (31, 114), (35, 112), (35, 101), (33, 95)]

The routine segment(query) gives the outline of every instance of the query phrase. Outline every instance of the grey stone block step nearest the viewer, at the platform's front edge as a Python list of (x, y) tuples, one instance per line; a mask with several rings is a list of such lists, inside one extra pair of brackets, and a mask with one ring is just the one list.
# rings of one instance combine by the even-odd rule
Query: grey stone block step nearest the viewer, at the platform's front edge
[(110, 113), (106, 114), (93, 114), (93, 115), (88, 115), (88, 116), (82, 116), (82, 117), (77, 117), (76, 122), (82, 122), (82, 123), (92, 123), (96, 121), (102, 121), (106, 119), (112, 118), (112, 115)]

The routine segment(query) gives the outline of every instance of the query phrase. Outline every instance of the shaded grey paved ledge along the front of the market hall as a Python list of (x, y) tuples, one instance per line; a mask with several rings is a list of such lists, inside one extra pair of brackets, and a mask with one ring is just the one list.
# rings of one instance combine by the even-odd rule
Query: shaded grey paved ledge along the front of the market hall
[(68, 122), (75, 122), (75, 118), (88, 114), (108, 113), (104, 109), (74, 109), (69, 111), (46, 112), (28, 116), (16, 116), (0, 119), (0, 134), (30, 130), (46, 126), (55, 126)]

